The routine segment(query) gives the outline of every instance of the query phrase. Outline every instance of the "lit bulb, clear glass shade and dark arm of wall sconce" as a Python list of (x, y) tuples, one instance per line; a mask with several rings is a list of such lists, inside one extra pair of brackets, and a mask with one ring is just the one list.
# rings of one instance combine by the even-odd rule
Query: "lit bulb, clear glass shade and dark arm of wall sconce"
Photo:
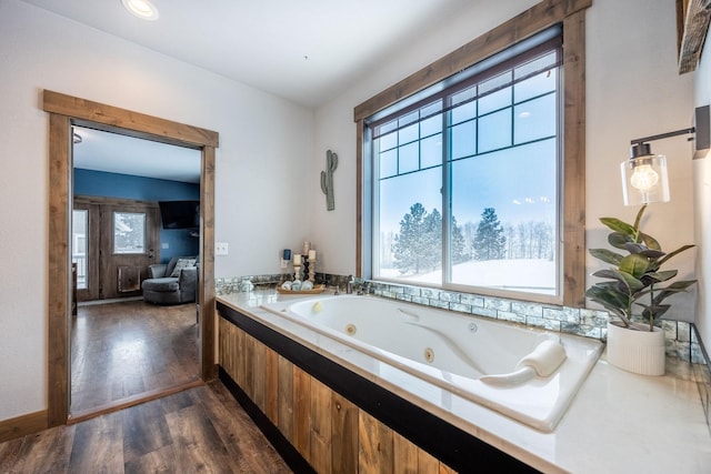
[(648, 142), (695, 132), (690, 129), (632, 140), (630, 159), (620, 164), (624, 205), (669, 202), (667, 157), (652, 153)]

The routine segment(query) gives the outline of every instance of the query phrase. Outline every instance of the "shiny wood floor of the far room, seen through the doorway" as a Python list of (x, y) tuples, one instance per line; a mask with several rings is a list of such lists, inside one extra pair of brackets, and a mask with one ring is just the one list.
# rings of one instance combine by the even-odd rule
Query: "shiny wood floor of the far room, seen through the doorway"
[(80, 305), (71, 327), (72, 416), (199, 380), (193, 303)]

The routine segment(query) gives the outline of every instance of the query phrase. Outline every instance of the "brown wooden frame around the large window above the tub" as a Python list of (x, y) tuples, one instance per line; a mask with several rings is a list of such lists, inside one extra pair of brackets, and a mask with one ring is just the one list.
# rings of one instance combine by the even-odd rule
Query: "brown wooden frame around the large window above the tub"
[[(542, 1), (521, 14), (508, 20), (485, 34), (470, 41), (450, 54), (437, 60), (391, 88), (380, 92), (354, 109), (357, 129), (357, 261), (356, 273), (361, 278), (372, 276), (371, 259), (373, 229), (370, 222), (372, 209), (368, 209), (367, 196), (372, 195), (370, 151), (365, 149), (363, 133), (368, 131), (364, 120), (395, 102), (413, 95), (452, 74), (467, 69), (507, 48), (554, 24), (562, 24), (562, 153), (563, 169), (560, 200), (563, 213), (560, 238), (562, 239), (562, 275), (559, 296), (525, 294), (528, 301), (562, 304), (571, 307), (584, 306), (585, 285), (585, 132), (584, 132), (584, 14), (590, 0)], [(367, 211), (367, 212), (364, 212)], [(478, 293), (501, 296), (499, 292), (481, 289)], [(523, 299), (507, 293), (505, 297)]]

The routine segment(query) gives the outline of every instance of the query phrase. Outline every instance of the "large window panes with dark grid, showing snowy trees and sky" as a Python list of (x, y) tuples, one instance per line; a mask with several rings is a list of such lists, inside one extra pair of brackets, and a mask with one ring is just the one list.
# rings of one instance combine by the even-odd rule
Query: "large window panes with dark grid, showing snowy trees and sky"
[(364, 120), (372, 278), (561, 293), (561, 34)]

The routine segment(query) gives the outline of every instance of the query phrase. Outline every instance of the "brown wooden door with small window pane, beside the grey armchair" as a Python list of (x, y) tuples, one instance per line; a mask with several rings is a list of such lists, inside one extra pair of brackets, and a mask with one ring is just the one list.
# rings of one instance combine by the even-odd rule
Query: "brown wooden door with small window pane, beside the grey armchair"
[(103, 204), (100, 218), (100, 297), (138, 296), (156, 260), (158, 206), (149, 203)]

